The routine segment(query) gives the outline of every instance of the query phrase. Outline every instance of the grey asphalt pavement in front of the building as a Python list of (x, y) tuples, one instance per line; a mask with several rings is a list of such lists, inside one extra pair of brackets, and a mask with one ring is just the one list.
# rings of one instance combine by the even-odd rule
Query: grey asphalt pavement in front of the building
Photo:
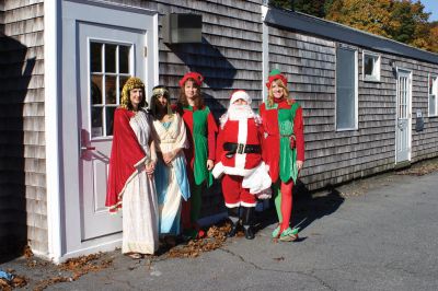
[[(298, 242), (273, 241), (265, 211), (253, 241), (233, 237), (195, 258), (132, 260), (115, 251), (108, 268), (47, 290), (438, 290), (437, 189), (438, 172), (387, 174), (296, 197)], [(44, 270), (23, 261), (0, 269), (35, 288)]]

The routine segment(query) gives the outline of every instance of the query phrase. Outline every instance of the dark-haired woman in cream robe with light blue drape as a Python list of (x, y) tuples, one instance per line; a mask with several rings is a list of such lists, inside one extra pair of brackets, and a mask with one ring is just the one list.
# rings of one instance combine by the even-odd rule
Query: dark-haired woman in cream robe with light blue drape
[(169, 238), (181, 233), (182, 200), (191, 197), (184, 149), (188, 148), (184, 121), (173, 113), (168, 88), (153, 88), (151, 114), (154, 117), (158, 162), (155, 186), (160, 211), (160, 235)]

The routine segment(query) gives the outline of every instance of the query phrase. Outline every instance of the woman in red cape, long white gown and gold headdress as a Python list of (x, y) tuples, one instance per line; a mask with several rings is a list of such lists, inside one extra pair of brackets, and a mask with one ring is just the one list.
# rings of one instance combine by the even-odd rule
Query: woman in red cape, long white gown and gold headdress
[(129, 78), (114, 113), (105, 206), (123, 206), (122, 253), (141, 258), (158, 249), (158, 205), (153, 181), (157, 154), (152, 118), (145, 107), (145, 84)]

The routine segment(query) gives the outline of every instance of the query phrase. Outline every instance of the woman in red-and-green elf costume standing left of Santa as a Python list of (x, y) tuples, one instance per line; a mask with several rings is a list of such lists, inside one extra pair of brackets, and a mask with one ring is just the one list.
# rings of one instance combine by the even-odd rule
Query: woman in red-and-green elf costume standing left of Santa
[(192, 196), (183, 202), (183, 229), (186, 236), (201, 237), (204, 231), (198, 225), (201, 208), (201, 194), (212, 184), (210, 171), (215, 161), (216, 132), (215, 118), (204, 104), (200, 85), (204, 77), (197, 72), (187, 72), (178, 82), (180, 98), (177, 110), (183, 117), (187, 130), (189, 147), (185, 150), (187, 174)]

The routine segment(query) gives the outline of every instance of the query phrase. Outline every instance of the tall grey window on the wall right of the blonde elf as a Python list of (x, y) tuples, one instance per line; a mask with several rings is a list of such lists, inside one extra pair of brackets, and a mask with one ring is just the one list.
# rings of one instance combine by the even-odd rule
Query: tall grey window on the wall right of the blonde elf
[(357, 129), (357, 50), (336, 49), (336, 130)]

